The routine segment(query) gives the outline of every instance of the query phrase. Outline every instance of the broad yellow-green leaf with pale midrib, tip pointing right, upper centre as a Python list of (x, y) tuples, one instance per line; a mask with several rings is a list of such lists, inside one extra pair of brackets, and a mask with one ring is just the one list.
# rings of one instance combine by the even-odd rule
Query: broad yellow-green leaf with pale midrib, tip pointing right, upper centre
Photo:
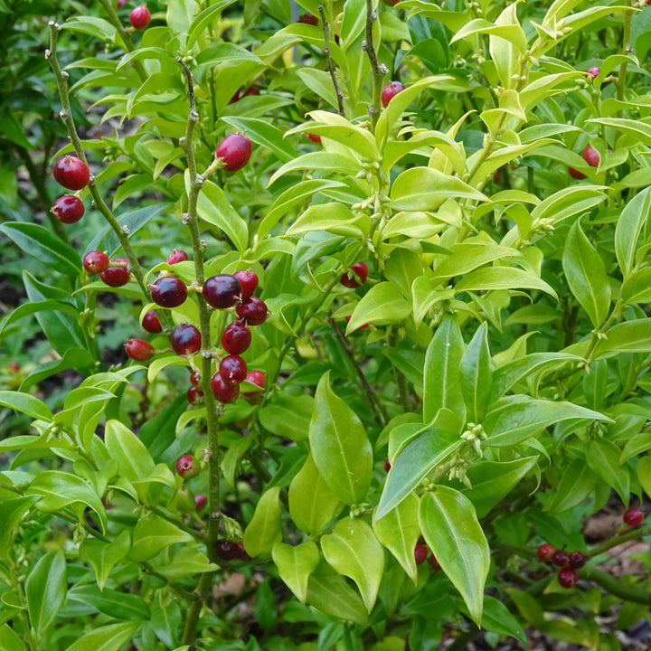
[[(399, 93), (400, 94), (400, 93)], [(450, 197), (488, 201), (486, 195), (432, 167), (412, 167), (402, 172), (392, 185), (392, 208), (403, 211), (432, 211)]]

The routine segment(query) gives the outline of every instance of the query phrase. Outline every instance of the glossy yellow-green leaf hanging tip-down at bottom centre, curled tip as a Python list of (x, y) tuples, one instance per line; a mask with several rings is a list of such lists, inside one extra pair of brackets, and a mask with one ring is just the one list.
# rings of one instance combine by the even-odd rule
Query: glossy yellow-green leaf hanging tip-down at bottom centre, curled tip
[(373, 529), (361, 518), (343, 518), (321, 536), (321, 549), (336, 571), (354, 580), (370, 613), (384, 572), (384, 550)]

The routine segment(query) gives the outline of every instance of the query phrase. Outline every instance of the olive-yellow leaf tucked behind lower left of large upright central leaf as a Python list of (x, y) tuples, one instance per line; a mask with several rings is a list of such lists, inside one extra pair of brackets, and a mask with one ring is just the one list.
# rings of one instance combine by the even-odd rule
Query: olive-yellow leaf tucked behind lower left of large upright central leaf
[(289, 484), (289, 514), (306, 533), (321, 533), (335, 516), (339, 498), (316, 468), (312, 454)]

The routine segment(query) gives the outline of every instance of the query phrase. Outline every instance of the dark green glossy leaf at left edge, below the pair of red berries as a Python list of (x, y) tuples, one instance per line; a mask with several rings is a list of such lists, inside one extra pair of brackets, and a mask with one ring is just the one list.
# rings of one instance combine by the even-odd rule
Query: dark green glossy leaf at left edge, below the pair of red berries
[(43, 226), (24, 222), (0, 224), (0, 232), (50, 269), (67, 276), (79, 276), (81, 259), (70, 244), (66, 244)]

